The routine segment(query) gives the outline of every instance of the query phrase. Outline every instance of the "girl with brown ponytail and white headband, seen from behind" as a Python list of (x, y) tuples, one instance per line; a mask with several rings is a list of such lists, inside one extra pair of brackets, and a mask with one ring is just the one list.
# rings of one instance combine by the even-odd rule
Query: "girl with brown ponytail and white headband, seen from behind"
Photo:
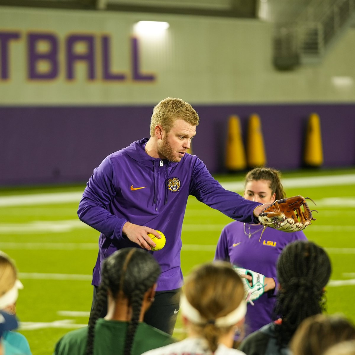
[(195, 268), (186, 279), (180, 301), (188, 337), (144, 355), (243, 355), (232, 349), (246, 314), (243, 283), (226, 262)]

